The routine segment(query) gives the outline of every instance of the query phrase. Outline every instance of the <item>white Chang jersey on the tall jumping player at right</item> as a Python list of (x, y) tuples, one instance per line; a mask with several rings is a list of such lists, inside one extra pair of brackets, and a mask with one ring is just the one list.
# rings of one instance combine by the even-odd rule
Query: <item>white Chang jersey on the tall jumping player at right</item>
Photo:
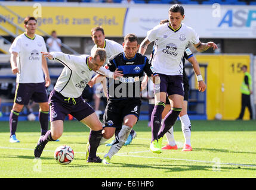
[(182, 58), (189, 42), (199, 43), (199, 36), (195, 30), (181, 24), (180, 28), (173, 30), (169, 23), (158, 25), (147, 32), (147, 39), (155, 41), (155, 52), (152, 66), (156, 73), (165, 75), (182, 75)]

